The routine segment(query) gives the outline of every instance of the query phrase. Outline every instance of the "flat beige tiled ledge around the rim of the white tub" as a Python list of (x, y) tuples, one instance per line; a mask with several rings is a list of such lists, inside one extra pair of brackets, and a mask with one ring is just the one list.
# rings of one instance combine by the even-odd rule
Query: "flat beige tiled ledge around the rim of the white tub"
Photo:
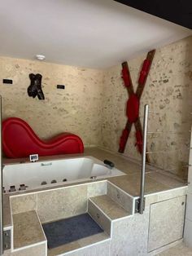
[[(52, 156), (52, 157), (39, 157), (40, 161), (43, 160), (51, 160), (51, 159), (65, 159), (68, 157), (85, 157), (92, 156), (98, 158), (100, 161), (104, 161), (105, 159), (110, 160), (115, 163), (116, 169), (119, 169), (127, 174), (128, 177), (124, 179), (124, 177), (114, 177), (109, 178), (111, 183), (118, 185), (118, 187), (125, 189), (126, 192), (131, 196), (138, 196), (140, 192), (140, 171), (141, 171), (141, 163), (137, 161), (130, 160), (129, 158), (123, 157), (120, 153), (116, 152), (107, 152), (101, 148), (85, 148), (85, 152), (83, 154), (76, 155), (60, 155), (60, 156)], [(20, 162), (20, 161), (28, 161), (28, 159), (3, 159), (3, 163), (11, 163), (11, 162)], [(88, 181), (93, 182), (93, 181)], [(76, 184), (79, 184), (78, 182)], [(83, 182), (85, 183), (85, 181)], [(59, 188), (63, 186), (71, 186), (72, 184), (62, 184), (55, 185), (52, 188)], [(164, 170), (159, 170), (155, 167), (146, 166), (146, 193), (154, 193), (161, 192), (172, 188), (179, 188), (185, 186), (186, 183), (179, 179), (176, 175), (168, 173)], [(45, 188), (38, 189), (38, 191), (42, 191)], [(47, 188), (46, 188), (47, 189)], [(51, 189), (51, 188), (50, 188)], [(35, 192), (37, 190), (33, 190)]]

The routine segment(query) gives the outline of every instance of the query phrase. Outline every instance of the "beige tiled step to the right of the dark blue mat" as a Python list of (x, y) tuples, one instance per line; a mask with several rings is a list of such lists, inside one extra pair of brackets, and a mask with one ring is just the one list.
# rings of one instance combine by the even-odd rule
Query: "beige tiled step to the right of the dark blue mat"
[(124, 218), (132, 214), (124, 210), (123, 207), (107, 195), (89, 198), (88, 212), (108, 233), (110, 233), (112, 220)]

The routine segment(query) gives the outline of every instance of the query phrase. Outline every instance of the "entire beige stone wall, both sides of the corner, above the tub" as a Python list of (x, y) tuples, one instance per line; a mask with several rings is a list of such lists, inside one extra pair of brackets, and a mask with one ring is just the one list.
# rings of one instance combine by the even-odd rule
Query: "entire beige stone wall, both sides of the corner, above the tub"
[[(150, 154), (151, 163), (184, 178), (192, 119), (191, 46), (189, 37), (156, 51), (140, 108), (143, 117), (144, 104), (149, 104), (154, 112), (150, 113), (149, 130), (160, 132), (148, 135), (148, 150), (161, 151)], [(128, 61), (135, 89), (145, 57)], [(0, 68), (3, 118), (24, 118), (42, 139), (70, 131), (80, 135), (85, 145), (118, 151), (128, 99), (120, 64), (94, 70), (1, 57)], [(42, 74), (45, 101), (28, 97), (29, 73)], [(11, 78), (14, 84), (3, 85), (2, 78)], [(64, 84), (65, 90), (57, 90), (57, 84)], [(134, 144), (133, 128), (124, 155), (141, 159)]]

